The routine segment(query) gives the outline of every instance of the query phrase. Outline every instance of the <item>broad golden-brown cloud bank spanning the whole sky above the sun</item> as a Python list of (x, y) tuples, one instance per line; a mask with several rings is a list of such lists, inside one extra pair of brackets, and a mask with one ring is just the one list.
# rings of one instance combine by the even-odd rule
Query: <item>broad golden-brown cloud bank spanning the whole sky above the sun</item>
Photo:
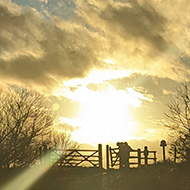
[[(187, 80), (189, 5), (177, 2), (56, 1), (39, 12), (0, 0), (1, 78), (53, 86), (104, 68)], [(50, 11), (63, 7), (65, 18)]]

